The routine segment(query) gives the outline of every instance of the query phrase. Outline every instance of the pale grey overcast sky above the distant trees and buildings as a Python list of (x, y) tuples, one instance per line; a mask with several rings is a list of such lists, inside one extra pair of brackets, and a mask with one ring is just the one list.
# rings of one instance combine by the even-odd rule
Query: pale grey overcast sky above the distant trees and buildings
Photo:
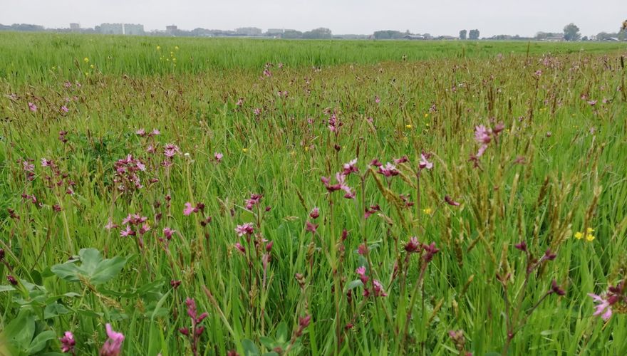
[(625, 19), (627, 0), (0, 0), (3, 24), (123, 22), (142, 23), (146, 31), (175, 24), (186, 30), (327, 27), (335, 34), (394, 29), (455, 36), (477, 28), (481, 36), (533, 36), (574, 22), (589, 36), (618, 31)]

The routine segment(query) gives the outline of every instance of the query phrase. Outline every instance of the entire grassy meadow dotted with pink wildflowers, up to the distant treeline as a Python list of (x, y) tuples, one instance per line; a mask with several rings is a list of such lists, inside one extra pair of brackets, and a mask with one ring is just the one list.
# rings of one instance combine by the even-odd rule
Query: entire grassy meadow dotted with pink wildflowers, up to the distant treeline
[(626, 355), (626, 54), (0, 33), (0, 355)]

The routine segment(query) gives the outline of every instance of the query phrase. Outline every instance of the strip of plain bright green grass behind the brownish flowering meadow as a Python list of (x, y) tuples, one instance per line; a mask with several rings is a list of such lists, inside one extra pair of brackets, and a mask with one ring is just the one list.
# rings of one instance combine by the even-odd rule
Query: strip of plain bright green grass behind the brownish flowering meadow
[[(157, 51), (157, 46), (160, 50)], [(175, 48), (179, 48), (178, 50)], [(289, 41), (242, 38), (167, 38), (0, 33), (0, 78), (11, 83), (108, 75), (200, 74), (259, 71), (266, 63), (291, 67), (374, 64), (442, 58), (494, 58), (498, 54), (608, 53), (624, 43), (504, 41)], [(88, 58), (89, 63), (83, 59)], [(171, 58), (176, 58), (176, 66)]]

